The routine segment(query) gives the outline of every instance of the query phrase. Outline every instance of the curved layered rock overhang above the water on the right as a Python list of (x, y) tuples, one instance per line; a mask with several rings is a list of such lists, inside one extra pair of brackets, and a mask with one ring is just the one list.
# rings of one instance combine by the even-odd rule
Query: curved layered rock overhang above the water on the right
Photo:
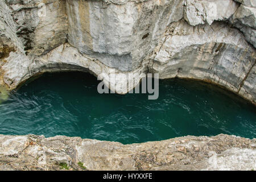
[(173, 27), (156, 48), (150, 72), (214, 82), (256, 101), (255, 49), (240, 31), (221, 22), (192, 27), (181, 21)]

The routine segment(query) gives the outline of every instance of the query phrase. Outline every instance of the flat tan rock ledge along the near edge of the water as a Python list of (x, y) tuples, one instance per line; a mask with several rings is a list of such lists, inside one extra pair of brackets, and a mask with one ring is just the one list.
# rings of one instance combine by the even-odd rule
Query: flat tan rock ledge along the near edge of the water
[(255, 170), (256, 140), (230, 135), (126, 144), (0, 135), (0, 170)]

